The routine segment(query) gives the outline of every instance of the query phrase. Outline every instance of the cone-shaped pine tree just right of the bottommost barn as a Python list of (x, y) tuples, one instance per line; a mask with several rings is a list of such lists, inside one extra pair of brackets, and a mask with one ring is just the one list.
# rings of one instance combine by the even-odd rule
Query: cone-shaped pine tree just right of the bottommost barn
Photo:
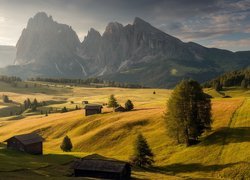
[(131, 158), (132, 164), (139, 167), (151, 166), (154, 163), (154, 154), (152, 153), (147, 140), (142, 134), (137, 136), (135, 142), (134, 155)]

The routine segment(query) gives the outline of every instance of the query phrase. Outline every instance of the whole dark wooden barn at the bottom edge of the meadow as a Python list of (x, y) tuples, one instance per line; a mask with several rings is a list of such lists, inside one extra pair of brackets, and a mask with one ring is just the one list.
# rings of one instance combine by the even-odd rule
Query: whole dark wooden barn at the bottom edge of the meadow
[(128, 180), (131, 178), (131, 166), (129, 163), (85, 157), (75, 161), (73, 165), (76, 177), (92, 177), (100, 179)]

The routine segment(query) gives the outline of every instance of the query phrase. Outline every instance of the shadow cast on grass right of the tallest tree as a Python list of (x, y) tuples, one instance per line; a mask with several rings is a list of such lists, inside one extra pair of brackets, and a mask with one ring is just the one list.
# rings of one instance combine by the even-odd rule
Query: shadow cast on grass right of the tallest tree
[(250, 142), (250, 127), (221, 128), (208, 135), (200, 145), (225, 145), (242, 142)]

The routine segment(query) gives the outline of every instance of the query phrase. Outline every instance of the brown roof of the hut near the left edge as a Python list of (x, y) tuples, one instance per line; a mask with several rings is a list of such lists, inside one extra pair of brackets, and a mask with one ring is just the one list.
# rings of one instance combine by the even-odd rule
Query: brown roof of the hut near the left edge
[(34, 143), (38, 143), (38, 142), (43, 141), (43, 138), (41, 136), (39, 136), (38, 134), (30, 133), (30, 134), (22, 134), (22, 135), (13, 136), (13, 137), (5, 140), (4, 142), (7, 142), (12, 138), (17, 139), (18, 141), (20, 141), (24, 145), (34, 144)]

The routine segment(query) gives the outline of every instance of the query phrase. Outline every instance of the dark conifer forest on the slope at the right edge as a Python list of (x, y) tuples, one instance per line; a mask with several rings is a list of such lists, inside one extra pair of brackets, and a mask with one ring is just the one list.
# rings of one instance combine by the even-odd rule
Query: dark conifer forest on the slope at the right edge
[(250, 87), (250, 68), (227, 72), (211, 81), (204, 83), (204, 87), (213, 87), (222, 90), (223, 87), (241, 86)]

